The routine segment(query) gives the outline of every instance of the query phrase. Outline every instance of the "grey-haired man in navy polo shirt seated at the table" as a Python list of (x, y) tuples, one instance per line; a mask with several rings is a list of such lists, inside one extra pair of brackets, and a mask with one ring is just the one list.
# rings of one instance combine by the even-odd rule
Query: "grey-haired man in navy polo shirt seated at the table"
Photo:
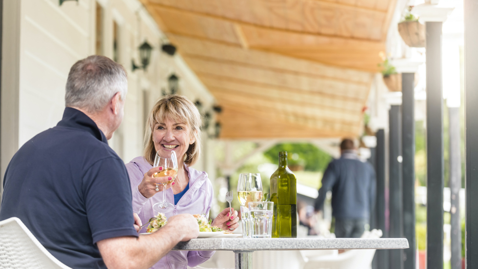
[(0, 220), (20, 218), (75, 269), (149, 268), (199, 233), (196, 220), (183, 214), (138, 236), (128, 173), (107, 143), (123, 119), (126, 92), (126, 72), (116, 62), (102, 56), (76, 62), (63, 119), (21, 146), (5, 172)]

